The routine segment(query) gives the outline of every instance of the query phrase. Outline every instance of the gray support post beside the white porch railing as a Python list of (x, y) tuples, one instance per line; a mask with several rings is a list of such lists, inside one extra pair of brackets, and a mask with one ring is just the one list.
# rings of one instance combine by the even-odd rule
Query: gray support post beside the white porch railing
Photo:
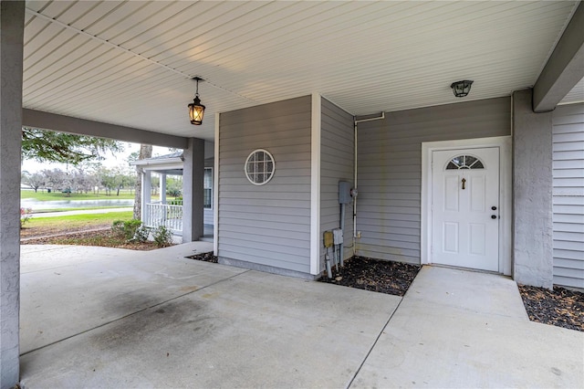
[(204, 141), (190, 138), (183, 158), (183, 243), (203, 237)]

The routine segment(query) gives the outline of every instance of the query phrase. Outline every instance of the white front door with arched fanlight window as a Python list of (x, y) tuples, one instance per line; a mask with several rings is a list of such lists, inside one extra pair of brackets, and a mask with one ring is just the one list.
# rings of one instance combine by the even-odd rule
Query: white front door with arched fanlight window
[(499, 148), (432, 152), (431, 262), (499, 271)]

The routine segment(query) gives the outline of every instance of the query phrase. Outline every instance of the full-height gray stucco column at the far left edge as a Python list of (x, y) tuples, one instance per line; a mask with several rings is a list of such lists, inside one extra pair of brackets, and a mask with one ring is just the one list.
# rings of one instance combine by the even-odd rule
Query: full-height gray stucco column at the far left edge
[(20, 149), (25, 2), (0, 2), (0, 388), (19, 379)]

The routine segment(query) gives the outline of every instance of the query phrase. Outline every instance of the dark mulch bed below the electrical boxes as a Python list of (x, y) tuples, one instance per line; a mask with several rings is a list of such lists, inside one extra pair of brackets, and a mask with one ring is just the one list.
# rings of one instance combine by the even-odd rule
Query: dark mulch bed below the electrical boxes
[(325, 274), (320, 282), (403, 296), (410, 288), (420, 266), (389, 260), (355, 256), (344, 261), (339, 272), (333, 267), (333, 277)]

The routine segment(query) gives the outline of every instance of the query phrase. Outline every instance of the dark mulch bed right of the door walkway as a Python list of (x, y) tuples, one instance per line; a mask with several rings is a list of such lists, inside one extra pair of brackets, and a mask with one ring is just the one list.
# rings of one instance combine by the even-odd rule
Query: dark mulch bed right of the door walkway
[(584, 293), (570, 289), (519, 285), (530, 321), (584, 331)]

